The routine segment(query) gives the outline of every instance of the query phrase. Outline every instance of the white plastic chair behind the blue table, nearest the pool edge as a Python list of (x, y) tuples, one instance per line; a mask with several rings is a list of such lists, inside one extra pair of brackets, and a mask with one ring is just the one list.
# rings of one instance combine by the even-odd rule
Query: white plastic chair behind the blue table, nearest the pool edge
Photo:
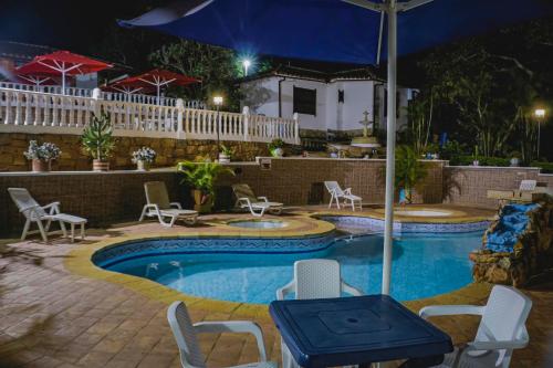
[[(342, 280), (340, 263), (334, 260), (305, 260), (294, 263), (294, 280), (276, 291), (276, 299), (283, 301), (290, 293), (296, 299), (341, 297), (342, 293), (354, 296), (363, 292)], [(282, 367), (299, 367), (289, 348), (281, 339)]]

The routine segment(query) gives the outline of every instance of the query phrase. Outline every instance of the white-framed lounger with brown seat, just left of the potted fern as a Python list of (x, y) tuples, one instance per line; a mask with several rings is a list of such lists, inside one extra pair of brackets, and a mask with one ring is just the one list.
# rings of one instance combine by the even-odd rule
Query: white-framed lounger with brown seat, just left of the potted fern
[[(181, 219), (187, 224), (195, 224), (198, 219), (198, 212), (192, 210), (184, 210), (179, 202), (169, 202), (167, 187), (163, 181), (147, 181), (144, 183), (146, 192), (146, 204), (144, 206), (138, 221), (143, 221), (145, 217), (157, 218), (164, 227), (170, 228), (178, 219)], [(164, 218), (169, 218), (166, 222)]]

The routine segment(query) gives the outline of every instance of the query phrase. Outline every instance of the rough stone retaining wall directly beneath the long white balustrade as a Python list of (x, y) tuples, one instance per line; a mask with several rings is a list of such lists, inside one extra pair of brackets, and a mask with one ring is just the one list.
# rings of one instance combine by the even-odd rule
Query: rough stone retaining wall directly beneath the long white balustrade
[[(49, 135), (49, 134), (19, 134), (0, 133), (0, 171), (28, 171), (30, 162), (23, 156), (30, 140), (40, 143), (51, 141), (62, 150), (62, 157), (52, 165), (53, 170), (72, 171), (90, 170), (92, 159), (85, 156), (81, 148), (81, 137), (75, 135)], [(138, 138), (117, 137), (116, 149), (112, 155), (112, 169), (132, 169), (135, 165), (131, 161), (133, 151), (143, 146), (152, 147), (158, 154), (156, 165), (158, 167), (173, 166), (179, 160), (195, 159), (198, 156), (217, 155), (217, 141), (215, 140), (181, 140), (170, 138)], [(237, 160), (253, 160), (257, 156), (268, 156), (267, 144), (223, 141), (227, 147), (234, 148)]]

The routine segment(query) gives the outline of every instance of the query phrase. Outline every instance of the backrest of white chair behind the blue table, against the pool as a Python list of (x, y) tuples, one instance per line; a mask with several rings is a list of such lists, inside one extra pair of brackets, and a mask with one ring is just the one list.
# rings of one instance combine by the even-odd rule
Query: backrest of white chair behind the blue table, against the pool
[(305, 260), (294, 263), (295, 298), (340, 297), (340, 263), (334, 260)]

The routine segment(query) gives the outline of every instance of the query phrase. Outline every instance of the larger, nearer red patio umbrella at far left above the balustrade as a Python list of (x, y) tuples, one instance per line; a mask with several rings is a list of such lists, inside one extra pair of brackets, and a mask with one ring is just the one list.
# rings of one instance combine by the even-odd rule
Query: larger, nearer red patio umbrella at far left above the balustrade
[(35, 56), (29, 63), (17, 69), (19, 75), (61, 75), (62, 91), (65, 93), (65, 76), (103, 71), (113, 65), (74, 54), (69, 51), (56, 51), (51, 54)]

